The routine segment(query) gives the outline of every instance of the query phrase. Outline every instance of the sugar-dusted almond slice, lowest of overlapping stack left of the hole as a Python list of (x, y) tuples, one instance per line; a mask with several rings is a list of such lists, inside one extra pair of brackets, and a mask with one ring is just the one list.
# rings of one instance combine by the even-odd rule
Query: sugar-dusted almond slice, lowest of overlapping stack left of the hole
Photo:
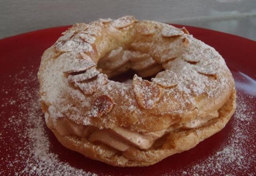
[(75, 86), (79, 87), (84, 94), (92, 94), (93, 92), (96, 92), (96, 90), (98, 90), (98, 88), (104, 84), (107, 84), (108, 82), (108, 77), (106, 76), (106, 74), (98, 74), (96, 79), (91, 81), (91, 82), (75, 82)]

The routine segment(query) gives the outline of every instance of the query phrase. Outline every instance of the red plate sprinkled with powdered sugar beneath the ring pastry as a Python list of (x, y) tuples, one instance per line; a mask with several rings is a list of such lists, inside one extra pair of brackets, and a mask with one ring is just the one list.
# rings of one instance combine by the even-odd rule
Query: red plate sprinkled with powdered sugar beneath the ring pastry
[(44, 123), (37, 95), (40, 57), (67, 28), (0, 40), (0, 175), (256, 175), (256, 42), (186, 26), (225, 58), (236, 80), (236, 114), (191, 150), (153, 166), (118, 168), (64, 148)]

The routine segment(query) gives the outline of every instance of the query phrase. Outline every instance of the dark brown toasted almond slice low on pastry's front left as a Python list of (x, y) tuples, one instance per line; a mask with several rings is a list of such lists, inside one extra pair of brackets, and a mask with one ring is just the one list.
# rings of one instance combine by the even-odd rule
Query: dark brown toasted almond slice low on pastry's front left
[(89, 117), (100, 117), (102, 114), (106, 114), (111, 111), (113, 107), (113, 100), (107, 95), (98, 96), (90, 110)]

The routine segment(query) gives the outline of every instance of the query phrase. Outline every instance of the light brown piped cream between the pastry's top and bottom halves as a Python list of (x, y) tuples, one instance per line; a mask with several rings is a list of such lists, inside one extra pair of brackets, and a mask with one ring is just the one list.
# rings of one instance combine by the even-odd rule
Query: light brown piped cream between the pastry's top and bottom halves
[(192, 129), (204, 126), (209, 120), (218, 117), (218, 111), (212, 112), (204, 118), (197, 118), (184, 124), (174, 122), (171, 126), (164, 130), (156, 132), (134, 132), (127, 128), (115, 127), (112, 129), (99, 129), (93, 126), (83, 126), (76, 124), (67, 118), (58, 118), (56, 122), (52, 122), (52, 118), (48, 118), (48, 126), (55, 128), (62, 136), (74, 135), (82, 138), (88, 138), (91, 142), (102, 142), (116, 150), (126, 151), (130, 147), (140, 149), (150, 148), (156, 140), (175, 130)]

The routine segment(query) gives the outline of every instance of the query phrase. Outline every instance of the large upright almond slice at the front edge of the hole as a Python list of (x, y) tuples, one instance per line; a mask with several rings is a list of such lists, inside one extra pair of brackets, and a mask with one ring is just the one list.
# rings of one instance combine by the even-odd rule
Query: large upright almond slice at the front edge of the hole
[(132, 83), (138, 104), (144, 109), (154, 108), (162, 94), (162, 89), (153, 82), (143, 80), (136, 74)]

